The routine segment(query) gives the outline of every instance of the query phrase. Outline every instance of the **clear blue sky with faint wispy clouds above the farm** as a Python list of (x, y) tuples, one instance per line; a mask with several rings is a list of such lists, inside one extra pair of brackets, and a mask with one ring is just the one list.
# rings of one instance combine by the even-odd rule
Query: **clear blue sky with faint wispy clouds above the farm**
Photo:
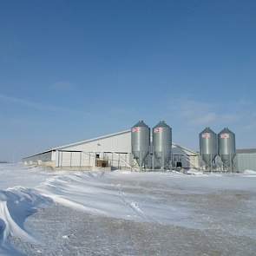
[(1, 1), (0, 159), (166, 120), (256, 148), (255, 1)]

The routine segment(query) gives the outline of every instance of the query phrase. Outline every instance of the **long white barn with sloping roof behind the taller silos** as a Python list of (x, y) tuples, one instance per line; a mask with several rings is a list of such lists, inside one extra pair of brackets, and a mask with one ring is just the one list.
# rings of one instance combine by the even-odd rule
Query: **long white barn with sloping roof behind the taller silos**
[[(172, 148), (173, 166), (199, 167), (199, 156), (193, 150), (174, 143)], [(29, 165), (60, 168), (136, 168), (136, 163), (131, 154), (130, 130), (51, 148), (40, 154), (24, 158), (23, 162)]]

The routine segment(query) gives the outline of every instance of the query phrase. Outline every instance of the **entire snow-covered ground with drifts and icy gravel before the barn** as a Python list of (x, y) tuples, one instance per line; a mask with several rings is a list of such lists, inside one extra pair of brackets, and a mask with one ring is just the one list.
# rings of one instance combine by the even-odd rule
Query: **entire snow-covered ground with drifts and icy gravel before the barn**
[(0, 175), (0, 255), (256, 255), (253, 171)]

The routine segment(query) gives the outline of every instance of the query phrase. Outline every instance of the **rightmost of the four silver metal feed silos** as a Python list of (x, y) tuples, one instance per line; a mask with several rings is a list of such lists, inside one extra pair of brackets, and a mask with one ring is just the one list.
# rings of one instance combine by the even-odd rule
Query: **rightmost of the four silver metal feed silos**
[(224, 128), (218, 135), (218, 154), (224, 169), (233, 170), (233, 159), (236, 154), (235, 135), (229, 128)]

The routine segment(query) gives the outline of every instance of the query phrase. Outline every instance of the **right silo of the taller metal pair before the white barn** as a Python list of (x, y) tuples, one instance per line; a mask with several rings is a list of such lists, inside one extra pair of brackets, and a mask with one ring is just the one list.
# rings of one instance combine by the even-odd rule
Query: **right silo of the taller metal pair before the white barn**
[(172, 154), (172, 128), (160, 121), (153, 128), (154, 168), (167, 168)]

